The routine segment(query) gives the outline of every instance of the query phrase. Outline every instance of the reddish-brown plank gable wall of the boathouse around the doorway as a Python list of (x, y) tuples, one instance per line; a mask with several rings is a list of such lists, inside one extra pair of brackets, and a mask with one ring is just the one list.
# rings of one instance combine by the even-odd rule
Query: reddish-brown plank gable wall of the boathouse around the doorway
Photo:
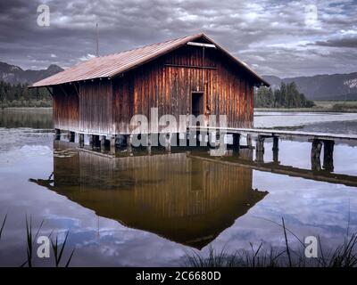
[(206, 48), (203, 60), (202, 47), (184, 46), (113, 82), (116, 133), (129, 133), (132, 115), (150, 118), (151, 107), (179, 121), (192, 112), (193, 92), (203, 92), (204, 113), (227, 115), (230, 127), (253, 126), (253, 79), (215, 49)]

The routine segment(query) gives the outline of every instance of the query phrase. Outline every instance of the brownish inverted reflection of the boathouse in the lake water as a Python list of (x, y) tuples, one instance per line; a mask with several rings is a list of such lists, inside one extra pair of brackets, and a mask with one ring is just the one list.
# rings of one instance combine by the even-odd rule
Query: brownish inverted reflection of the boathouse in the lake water
[(195, 248), (214, 240), (267, 194), (252, 189), (252, 169), (186, 152), (112, 159), (78, 149), (65, 155), (69, 150), (62, 145), (54, 141), (53, 180), (31, 181), (98, 216)]

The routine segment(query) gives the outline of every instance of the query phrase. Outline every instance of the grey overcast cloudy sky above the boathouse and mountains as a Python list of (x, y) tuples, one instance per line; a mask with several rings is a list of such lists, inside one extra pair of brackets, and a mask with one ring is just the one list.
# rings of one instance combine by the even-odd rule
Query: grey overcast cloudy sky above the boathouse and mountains
[[(37, 25), (39, 4), (50, 25)], [(0, 0), (0, 61), (70, 67), (201, 31), (262, 75), (357, 71), (357, 1)]]

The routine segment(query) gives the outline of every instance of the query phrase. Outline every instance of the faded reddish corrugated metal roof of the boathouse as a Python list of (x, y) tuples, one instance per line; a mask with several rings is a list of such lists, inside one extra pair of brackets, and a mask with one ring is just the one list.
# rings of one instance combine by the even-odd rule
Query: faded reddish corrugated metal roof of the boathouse
[(198, 34), (188, 37), (180, 37), (155, 45), (146, 45), (144, 47), (122, 53), (112, 53), (95, 57), (88, 61), (81, 62), (69, 69), (65, 69), (52, 77), (42, 79), (34, 83), (32, 87), (60, 85), (68, 82), (83, 81), (100, 77), (115, 77), (120, 73), (128, 71), (129, 69), (134, 69), (147, 61), (152, 61), (154, 58), (165, 53), (169, 53), (170, 51), (175, 50), (182, 45), (186, 45), (187, 42), (193, 41), (200, 37), (203, 37), (213, 45), (216, 45), (217, 48), (220, 49), (223, 53), (226, 53), (234, 61), (237, 61), (241, 67), (252, 73), (253, 77), (256, 77), (259, 82), (262, 82), (264, 85), (270, 85), (252, 69), (250, 69), (243, 61), (240, 61), (228, 53), (225, 49), (215, 44), (212, 39), (205, 36), (204, 34)]

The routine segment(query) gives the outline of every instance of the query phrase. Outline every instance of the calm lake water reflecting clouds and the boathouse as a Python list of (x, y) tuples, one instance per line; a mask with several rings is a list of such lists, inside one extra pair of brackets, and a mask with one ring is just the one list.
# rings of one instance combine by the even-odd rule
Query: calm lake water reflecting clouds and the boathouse
[[(39, 235), (69, 233), (72, 266), (183, 265), (210, 246), (234, 253), (284, 246), (280, 223), (324, 246), (357, 230), (357, 147), (336, 143), (334, 170), (311, 171), (311, 142), (279, 142), (279, 163), (255, 153), (215, 158), (207, 151), (122, 151), (112, 159), (54, 141), (49, 111), (0, 112), (0, 265), (26, 260), (25, 217)], [(256, 127), (357, 134), (357, 114), (257, 113)], [(266, 142), (264, 161), (273, 161)], [(281, 167), (283, 166), (283, 167)], [(284, 166), (290, 167), (286, 175)], [(0, 223), (1, 223), (0, 222)], [(290, 242), (297, 243), (292, 236)], [(54, 265), (34, 259), (34, 265)]]

